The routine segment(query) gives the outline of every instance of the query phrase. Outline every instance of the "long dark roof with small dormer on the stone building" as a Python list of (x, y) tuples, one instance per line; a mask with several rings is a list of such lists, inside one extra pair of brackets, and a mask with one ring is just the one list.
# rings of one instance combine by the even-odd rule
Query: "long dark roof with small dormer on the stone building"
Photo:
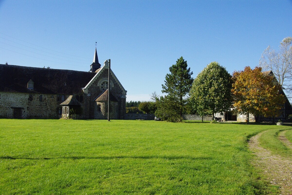
[[(91, 81), (95, 74), (0, 64), (0, 91), (44, 94), (83, 93), (82, 88)], [(34, 82), (34, 89), (27, 89), (29, 80)]]

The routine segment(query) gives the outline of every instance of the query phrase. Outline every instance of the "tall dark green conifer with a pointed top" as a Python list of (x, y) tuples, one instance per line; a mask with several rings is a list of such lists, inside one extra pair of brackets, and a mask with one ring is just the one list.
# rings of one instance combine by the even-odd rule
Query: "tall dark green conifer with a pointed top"
[[(169, 67), (170, 73), (165, 76), (165, 85), (162, 85), (162, 93), (167, 93), (168, 95), (163, 98), (164, 103), (170, 103), (173, 106), (167, 106), (165, 109), (178, 109), (178, 115), (181, 118), (185, 103), (187, 102), (188, 93), (192, 86), (193, 78), (190, 72), (190, 68), (187, 68), (187, 61), (180, 57), (176, 64)], [(158, 106), (158, 109), (162, 109)], [(176, 113), (174, 110), (170, 110), (170, 113)], [(178, 117), (175, 117), (178, 118)]]

